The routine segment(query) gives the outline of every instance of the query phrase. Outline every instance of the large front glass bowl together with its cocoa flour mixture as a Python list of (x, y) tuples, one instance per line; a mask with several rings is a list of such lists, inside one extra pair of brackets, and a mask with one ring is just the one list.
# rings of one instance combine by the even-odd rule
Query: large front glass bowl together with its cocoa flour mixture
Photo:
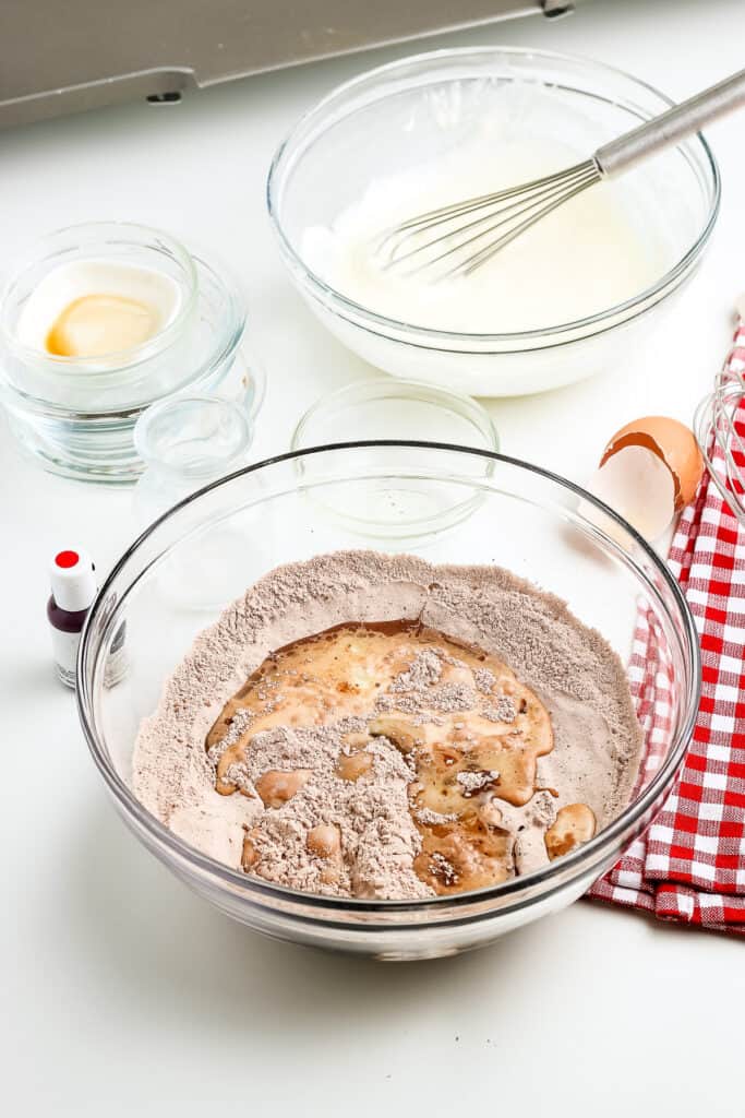
[[(340, 503), (375, 510), (372, 538), (323, 514)], [(107, 686), (124, 618), (131, 671)], [(590, 494), (389, 440), (281, 455), (165, 513), (102, 587), (77, 682), (116, 809), (191, 889), (281, 939), (417, 959), (612, 864), (676, 775), (699, 655), (663, 561)]]

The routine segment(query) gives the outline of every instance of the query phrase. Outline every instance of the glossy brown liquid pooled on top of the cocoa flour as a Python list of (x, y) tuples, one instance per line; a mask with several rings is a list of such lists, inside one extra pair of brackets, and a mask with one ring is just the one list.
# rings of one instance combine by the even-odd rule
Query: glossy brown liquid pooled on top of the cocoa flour
[[(434, 893), (499, 884), (515, 874), (516, 809), (538, 787), (537, 759), (553, 749), (548, 712), (497, 657), (464, 647), (418, 623), (336, 626), (271, 654), (226, 705), (207, 739), (223, 795), (258, 794), (286, 826), (303, 828), (293, 806), (312, 789), (312, 760), (258, 771), (251, 768), (257, 735), (283, 727), (346, 727), (335, 776), (356, 784), (375, 777), (376, 747), (399, 750), (409, 766), (408, 803), (419, 833), (413, 870)], [(243, 731), (231, 733), (231, 727)], [(260, 740), (260, 739), (258, 739)], [(229, 741), (221, 749), (221, 742)], [(260, 766), (259, 766), (260, 768)], [(240, 776), (251, 773), (250, 785)], [(314, 797), (315, 798), (315, 797)], [(572, 805), (592, 837), (594, 815)], [(354, 794), (347, 803), (354, 816)], [(561, 814), (561, 813), (560, 813)], [(308, 851), (326, 862), (324, 882), (346, 872), (354, 880), (344, 830), (329, 817), (308, 828)], [(528, 813), (529, 817), (529, 813)], [(266, 818), (266, 816), (265, 816)], [(544, 819), (546, 860), (552, 854)], [(566, 816), (554, 849), (575, 845), (576, 821)], [(274, 816), (270, 825), (275, 826)], [(247, 832), (243, 869), (261, 875), (262, 822)]]

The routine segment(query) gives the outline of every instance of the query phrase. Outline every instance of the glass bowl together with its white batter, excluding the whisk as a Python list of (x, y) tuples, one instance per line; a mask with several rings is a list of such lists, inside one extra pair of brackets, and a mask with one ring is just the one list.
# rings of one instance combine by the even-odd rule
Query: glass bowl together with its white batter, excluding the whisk
[(290, 278), (371, 364), (476, 396), (537, 392), (628, 359), (693, 275), (719, 205), (703, 136), (602, 182), (469, 277), (381, 272), (376, 235), (412, 214), (586, 159), (663, 94), (586, 59), (438, 50), (333, 91), (279, 146), (270, 219)]

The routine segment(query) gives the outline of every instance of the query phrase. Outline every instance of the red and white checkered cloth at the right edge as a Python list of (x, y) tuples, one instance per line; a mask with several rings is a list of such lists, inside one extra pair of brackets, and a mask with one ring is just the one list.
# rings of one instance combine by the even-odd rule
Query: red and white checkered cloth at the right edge
[[(743, 322), (726, 368), (745, 373)], [(745, 407), (735, 427), (745, 438)], [(745, 529), (708, 474), (680, 517), (669, 565), (700, 638), (696, 728), (663, 807), (589, 896), (745, 936)], [(640, 615), (629, 675), (648, 742), (641, 785), (659, 765), (670, 717), (670, 679), (647, 667), (657, 662), (648, 657), (656, 639), (649, 615)]]

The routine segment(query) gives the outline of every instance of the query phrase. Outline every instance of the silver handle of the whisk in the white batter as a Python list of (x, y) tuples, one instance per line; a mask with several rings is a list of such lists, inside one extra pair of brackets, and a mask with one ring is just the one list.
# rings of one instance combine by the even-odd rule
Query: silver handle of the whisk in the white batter
[(745, 106), (745, 70), (713, 85), (695, 97), (674, 105), (666, 113), (603, 144), (594, 154), (601, 174), (610, 178), (628, 170), (648, 155), (669, 148), (691, 132), (734, 108)]

